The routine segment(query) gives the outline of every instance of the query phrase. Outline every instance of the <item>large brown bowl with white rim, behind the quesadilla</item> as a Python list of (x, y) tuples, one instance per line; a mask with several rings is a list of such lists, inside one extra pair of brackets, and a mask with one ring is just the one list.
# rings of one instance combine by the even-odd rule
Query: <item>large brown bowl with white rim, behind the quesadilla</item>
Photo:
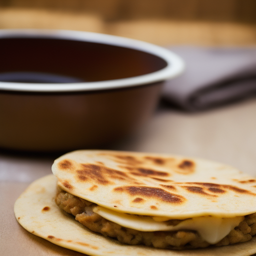
[(0, 147), (97, 147), (141, 126), (183, 70), (146, 42), (66, 30), (0, 30)]

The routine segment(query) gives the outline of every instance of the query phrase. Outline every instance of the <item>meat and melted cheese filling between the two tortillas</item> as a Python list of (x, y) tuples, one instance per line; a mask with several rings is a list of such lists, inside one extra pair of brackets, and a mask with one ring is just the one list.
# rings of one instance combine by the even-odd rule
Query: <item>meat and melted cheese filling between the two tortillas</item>
[(128, 244), (197, 248), (247, 241), (256, 233), (256, 213), (234, 218), (202, 216), (166, 220), (116, 212), (74, 196), (60, 187), (55, 202), (89, 229)]

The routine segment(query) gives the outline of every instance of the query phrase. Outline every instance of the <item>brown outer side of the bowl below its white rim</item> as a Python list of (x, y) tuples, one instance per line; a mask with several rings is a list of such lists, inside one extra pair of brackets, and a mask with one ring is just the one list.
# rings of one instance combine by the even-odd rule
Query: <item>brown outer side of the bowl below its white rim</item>
[(76, 93), (0, 91), (0, 147), (63, 151), (97, 147), (140, 127), (161, 82)]

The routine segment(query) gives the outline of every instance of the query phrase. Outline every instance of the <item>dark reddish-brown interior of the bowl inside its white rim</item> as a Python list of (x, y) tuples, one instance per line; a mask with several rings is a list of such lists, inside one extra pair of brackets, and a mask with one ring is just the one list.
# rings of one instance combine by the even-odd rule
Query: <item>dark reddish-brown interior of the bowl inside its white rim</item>
[(162, 58), (126, 47), (53, 38), (0, 38), (0, 81), (83, 82), (162, 69)]

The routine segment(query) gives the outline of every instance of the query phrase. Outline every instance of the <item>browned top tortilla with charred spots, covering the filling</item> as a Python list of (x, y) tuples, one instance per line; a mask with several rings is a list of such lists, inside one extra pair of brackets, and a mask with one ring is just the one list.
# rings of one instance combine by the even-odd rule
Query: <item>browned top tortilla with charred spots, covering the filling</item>
[(57, 158), (52, 172), (67, 192), (125, 213), (182, 219), (256, 212), (256, 178), (198, 158), (77, 150)]

